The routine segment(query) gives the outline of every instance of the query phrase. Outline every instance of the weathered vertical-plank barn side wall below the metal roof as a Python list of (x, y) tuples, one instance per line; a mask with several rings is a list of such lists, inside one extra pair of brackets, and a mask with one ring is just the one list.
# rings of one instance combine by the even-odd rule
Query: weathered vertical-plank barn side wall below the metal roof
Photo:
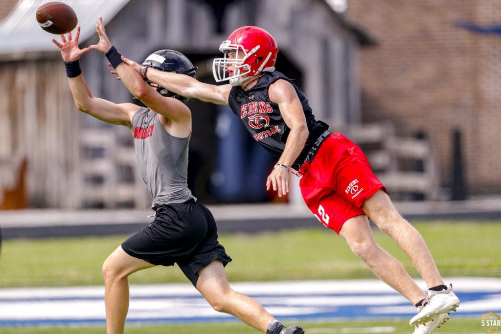
[(59, 60), (0, 63), (1, 182), (17, 184), (27, 161), (31, 206), (79, 207), (79, 122)]

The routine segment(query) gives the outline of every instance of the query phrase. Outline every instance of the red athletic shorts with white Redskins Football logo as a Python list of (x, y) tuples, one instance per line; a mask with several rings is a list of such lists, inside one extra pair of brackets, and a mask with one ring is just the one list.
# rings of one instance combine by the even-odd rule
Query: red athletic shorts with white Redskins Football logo
[(336, 233), (348, 219), (365, 214), (362, 205), (376, 191), (386, 191), (362, 150), (339, 133), (322, 143), (299, 174), (303, 175), (299, 185), (306, 205)]

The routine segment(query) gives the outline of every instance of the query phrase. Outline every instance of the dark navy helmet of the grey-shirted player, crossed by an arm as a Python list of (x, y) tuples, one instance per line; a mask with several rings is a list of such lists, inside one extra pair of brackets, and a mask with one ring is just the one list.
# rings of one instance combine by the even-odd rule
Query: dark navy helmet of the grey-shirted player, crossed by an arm
[[(197, 68), (193, 66), (193, 64), (186, 56), (175, 50), (158, 50), (149, 55), (144, 60), (142, 65), (154, 68), (155, 70), (159, 71), (175, 72), (196, 78), (195, 71)], [(172, 97), (182, 102), (189, 100), (184, 96), (169, 92), (167, 89), (160, 87), (152, 82), (148, 81), (148, 84), (156, 88), (157, 92), (162, 96)]]

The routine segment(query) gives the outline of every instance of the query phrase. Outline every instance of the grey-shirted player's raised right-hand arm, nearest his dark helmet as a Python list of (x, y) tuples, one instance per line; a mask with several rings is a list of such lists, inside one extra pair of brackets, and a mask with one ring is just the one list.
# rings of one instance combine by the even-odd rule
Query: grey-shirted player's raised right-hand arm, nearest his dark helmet
[[(89, 49), (107, 53), (112, 48), (100, 16), (95, 23), (99, 42), (89, 46)], [(179, 100), (163, 97), (143, 80), (142, 76), (135, 72), (125, 63), (115, 69), (125, 87), (151, 110), (160, 114), (160, 122), (165, 130), (176, 137), (186, 137), (191, 132), (191, 112), (188, 107)]]

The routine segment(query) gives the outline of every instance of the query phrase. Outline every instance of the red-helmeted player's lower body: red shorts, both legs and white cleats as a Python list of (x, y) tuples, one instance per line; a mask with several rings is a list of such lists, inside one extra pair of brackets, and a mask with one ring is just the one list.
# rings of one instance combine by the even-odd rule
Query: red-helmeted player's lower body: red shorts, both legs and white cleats
[[(317, 151), (313, 161), (305, 165), (300, 180), (301, 192), (319, 220), (344, 237), (376, 275), (416, 306), (432, 301), (420, 309), (420, 315), (417, 320), (413, 318), (411, 324), (416, 321), (422, 323), (423, 316), (425, 321), (430, 320), (429, 311), (422, 313), (425, 308), (437, 314), (450, 308), (451, 302), (452, 305), (454, 302), (459, 304), (457, 297), (448, 290), (447, 295), (452, 298), (445, 293), (430, 292), (424, 299), (424, 293), (401, 263), (375, 243), (365, 215), (402, 247), (429, 287), (447, 288), (423, 238), (397, 212), (360, 147), (341, 134), (332, 134)], [(417, 296), (420, 299), (415, 301)], [(452, 300), (454, 298), (455, 301)], [(431, 304), (433, 307), (430, 307)]]

